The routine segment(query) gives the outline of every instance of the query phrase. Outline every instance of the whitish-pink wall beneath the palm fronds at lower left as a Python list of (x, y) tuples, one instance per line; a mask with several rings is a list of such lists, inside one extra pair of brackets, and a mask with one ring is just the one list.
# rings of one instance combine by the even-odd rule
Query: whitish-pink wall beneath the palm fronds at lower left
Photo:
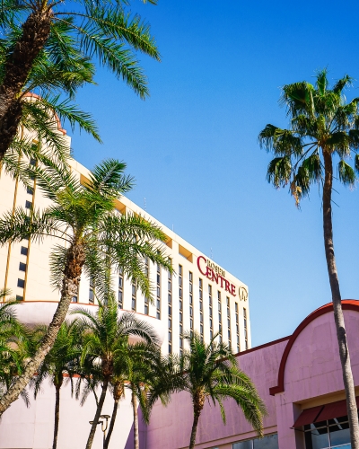
[[(55, 388), (44, 382), (38, 399), (29, 392), (31, 407), (27, 409), (19, 399), (6, 410), (0, 422), (1, 449), (48, 449), (52, 447), (54, 435)], [(81, 407), (71, 395), (70, 384), (61, 388), (60, 421), (57, 447), (59, 449), (81, 449), (86, 445), (90, 424), (96, 411), (96, 403), (90, 395)], [(130, 435), (133, 412), (130, 393), (120, 402), (118, 416), (113, 430), (109, 449), (124, 448)], [(112, 415), (113, 400), (110, 393), (106, 396), (102, 414)], [(102, 449), (102, 432), (98, 427), (92, 449)]]

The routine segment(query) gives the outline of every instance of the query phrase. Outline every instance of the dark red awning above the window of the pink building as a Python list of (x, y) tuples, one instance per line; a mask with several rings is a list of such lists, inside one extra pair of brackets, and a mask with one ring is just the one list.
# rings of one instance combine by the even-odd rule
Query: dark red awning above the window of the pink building
[[(359, 408), (359, 397), (356, 398), (356, 407)], [(327, 419), (345, 417), (346, 414), (346, 400), (318, 405), (311, 409), (302, 410), (293, 427), (302, 427), (306, 424), (326, 421)]]

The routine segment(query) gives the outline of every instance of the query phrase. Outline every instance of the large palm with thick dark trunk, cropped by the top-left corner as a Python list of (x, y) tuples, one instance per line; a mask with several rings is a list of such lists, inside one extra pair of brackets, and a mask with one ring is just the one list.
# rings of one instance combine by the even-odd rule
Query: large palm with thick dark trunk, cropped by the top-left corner
[[(149, 3), (154, 4), (155, 0)], [(24, 86), (31, 84), (31, 70), (44, 53), (50, 67), (44, 66), (41, 75), (45, 75), (46, 86), (51, 90), (58, 88), (51, 83), (51, 70), (56, 72), (61, 65), (72, 64), (72, 74), (78, 79), (83, 65), (97, 59), (141, 98), (148, 95), (136, 52), (157, 60), (160, 57), (150, 26), (138, 15), (131, 16), (126, 5), (127, 1), (45, 0), (20, 4), (17, 0), (4, 0), (0, 7), (0, 29), (6, 49), (2, 52), (0, 48), (0, 161), (12, 145), (22, 119), (26, 106), (22, 101)], [(13, 38), (13, 44), (7, 48), (6, 41)], [(78, 57), (81, 61), (76, 68)], [(69, 81), (67, 76), (66, 82)]]

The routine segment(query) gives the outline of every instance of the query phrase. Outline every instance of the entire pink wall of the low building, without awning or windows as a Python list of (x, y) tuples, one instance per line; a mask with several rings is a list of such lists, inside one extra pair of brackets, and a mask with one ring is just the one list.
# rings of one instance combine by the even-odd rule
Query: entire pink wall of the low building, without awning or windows
[[(346, 306), (351, 307), (344, 313), (355, 391), (359, 395), (359, 301), (344, 302)], [(304, 325), (290, 338), (253, 348), (237, 357), (241, 369), (250, 375), (267, 405), (264, 433), (277, 432), (279, 449), (304, 449), (302, 432), (292, 428), (303, 409), (345, 399), (332, 307), (328, 304), (319, 312), (303, 321)], [(284, 364), (287, 345), (291, 350)], [(269, 389), (277, 388), (281, 365), (284, 365), (283, 391), (271, 395)], [(198, 424), (198, 449), (229, 449), (232, 443), (255, 436), (234, 401), (226, 401), (225, 410), (226, 425), (219, 408), (206, 403)], [(192, 419), (187, 392), (174, 395), (166, 409), (156, 404), (142, 449), (188, 447)], [(132, 448), (129, 442), (126, 449)]]

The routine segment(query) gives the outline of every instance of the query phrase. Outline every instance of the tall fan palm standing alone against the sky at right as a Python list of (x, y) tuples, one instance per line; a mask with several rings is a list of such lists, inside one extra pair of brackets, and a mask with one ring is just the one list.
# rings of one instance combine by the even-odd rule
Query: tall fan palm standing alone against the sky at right
[[(267, 125), (258, 139), (260, 145), (276, 155), (268, 165), (267, 180), (276, 188), (289, 184), (297, 206), (309, 195), (312, 184), (322, 188), (324, 247), (351, 444), (353, 449), (359, 449), (355, 388), (337, 276), (331, 208), (333, 159), (338, 159), (337, 174), (343, 184), (353, 186), (355, 171), (359, 172), (359, 154), (356, 153), (359, 148), (359, 98), (346, 102), (343, 91), (352, 85), (348, 75), (331, 89), (328, 88), (327, 70), (320, 71), (316, 78), (315, 85), (303, 81), (283, 87), (280, 102), (287, 109), (291, 126), (282, 129)], [(355, 154), (355, 169), (347, 162), (352, 153)]]

